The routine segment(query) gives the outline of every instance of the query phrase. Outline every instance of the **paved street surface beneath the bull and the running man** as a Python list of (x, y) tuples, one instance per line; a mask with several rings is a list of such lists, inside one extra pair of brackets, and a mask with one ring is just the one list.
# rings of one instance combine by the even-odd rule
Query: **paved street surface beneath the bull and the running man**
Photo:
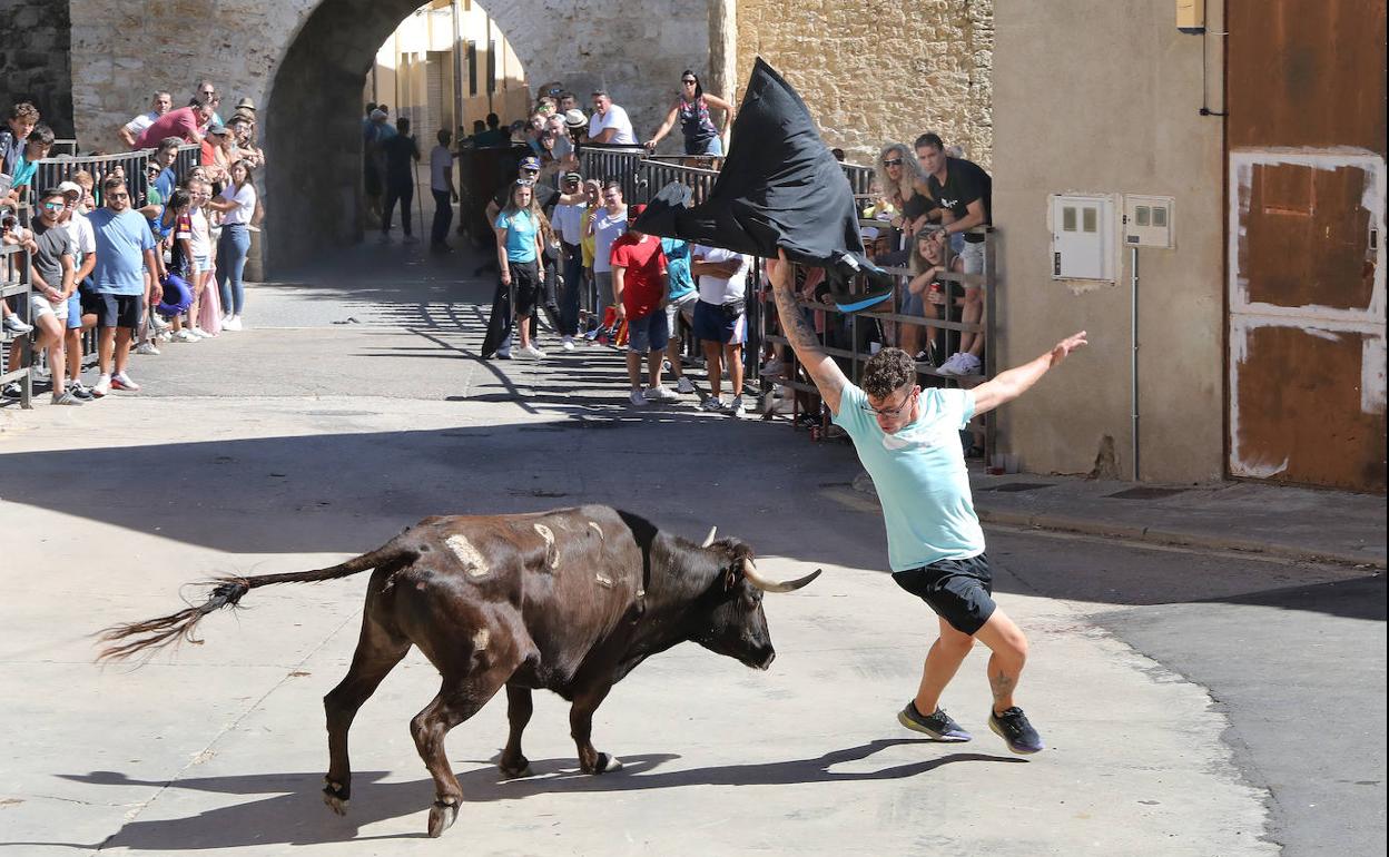
[[(881, 571), (849, 450), (633, 413), (607, 351), (469, 360), (486, 283), (418, 258), (257, 289), (256, 329), (142, 360), (146, 394), (0, 411), (0, 849), (1382, 853), (1382, 579), (995, 529), (1050, 750), (1020, 760), (988, 733), (982, 651), (946, 699), (976, 740), (921, 742), (893, 715), (935, 622)], [(596, 725), (621, 774), (578, 775), (560, 700), (538, 697), (536, 775), (501, 781), (488, 706), (450, 736), (467, 794), (450, 844), (422, 839), (432, 786), (406, 724), (435, 678), (415, 654), (354, 725), (349, 817), (318, 799), (319, 699), (364, 579), (257, 590), (140, 669), (90, 663), (90, 632), (211, 574), (318, 567), (426, 514), (581, 501), (690, 536), (720, 524), (774, 574), (826, 574), (768, 599), (770, 672), (686, 644), (625, 679)]]

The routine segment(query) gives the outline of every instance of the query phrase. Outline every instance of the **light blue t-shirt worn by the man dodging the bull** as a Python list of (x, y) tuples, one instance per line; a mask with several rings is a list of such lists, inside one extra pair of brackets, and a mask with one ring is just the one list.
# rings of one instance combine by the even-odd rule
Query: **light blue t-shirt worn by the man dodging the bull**
[(853, 439), (858, 460), (878, 489), (892, 569), (983, 553), (983, 529), (974, 514), (970, 472), (960, 444), (960, 429), (974, 415), (974, 393), (921, 390), (920, 417), (895, 435), (878, 428), (878, 419), (864, 410), (867, 406), (868, 396), (847, 385), (835, 424)]

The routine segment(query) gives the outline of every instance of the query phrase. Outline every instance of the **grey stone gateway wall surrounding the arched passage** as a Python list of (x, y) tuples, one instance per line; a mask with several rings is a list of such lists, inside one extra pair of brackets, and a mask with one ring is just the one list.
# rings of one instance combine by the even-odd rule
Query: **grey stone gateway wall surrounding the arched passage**
[[(175, 104), (211, 78), (228, 107), (260, 106), (267, 144), (267, 246), (311, 257), (361, 233), (361, 92), (376, 49), (419, 0), (72, 0), (74, 107), (83, 147), (114, 147), (115, 128), (157, 88)], [(531, 81), (596, 86), (628, 108), (639, 135), (669, 110), (685, 68), (708, 57), (708, 15), (651, 0), (481, 4), (508, 35)], [(174, 38), (171, 33), (176, 33)], [(301, 193), (311, 188), (314, 194)], [(329, 213), (325, 217), (325, 211)], [(288, 240), (293, 229), (293, 242)]]

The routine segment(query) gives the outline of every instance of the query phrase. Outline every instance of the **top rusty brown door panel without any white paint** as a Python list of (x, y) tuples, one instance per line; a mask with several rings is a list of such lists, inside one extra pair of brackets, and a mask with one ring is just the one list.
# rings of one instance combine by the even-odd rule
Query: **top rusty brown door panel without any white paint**
[(1385, 154), (1385, 0), (1228, 0), (1229, 146)]

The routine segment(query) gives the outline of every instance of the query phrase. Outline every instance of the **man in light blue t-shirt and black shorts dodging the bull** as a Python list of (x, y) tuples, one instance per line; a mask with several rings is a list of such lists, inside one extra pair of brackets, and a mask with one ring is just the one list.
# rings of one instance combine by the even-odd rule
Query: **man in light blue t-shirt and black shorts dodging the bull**
[(1042, 738), (1022, 708), (1013, 704), (1028, 640), (993, 603), (993, 575), (970, 496), (960, 429), (975, 414), (1021, 396), (1047, 369), (1083, 346), (1085, 332), (972, 390), (922, 390), (911, 357), (901, 349), (883, 349), (864, 364), (863, 388), (857, 388), (821, 349), (796, 306), (785, 253), (779, 263), (768, 261), (767, 271), (786, 339), (835, 424), (853, 439), (878, 489), (892, 579), (921, 597), (940, 621), (940, 636), (926, 654), (917, 696), (897, 714), (897, 721), (936, 740), (970, 740), (970, 733), (939, 703), (974, 640), (979, 640), (993, 651), (989, 728), (1014, 753), (1042, 750)]

